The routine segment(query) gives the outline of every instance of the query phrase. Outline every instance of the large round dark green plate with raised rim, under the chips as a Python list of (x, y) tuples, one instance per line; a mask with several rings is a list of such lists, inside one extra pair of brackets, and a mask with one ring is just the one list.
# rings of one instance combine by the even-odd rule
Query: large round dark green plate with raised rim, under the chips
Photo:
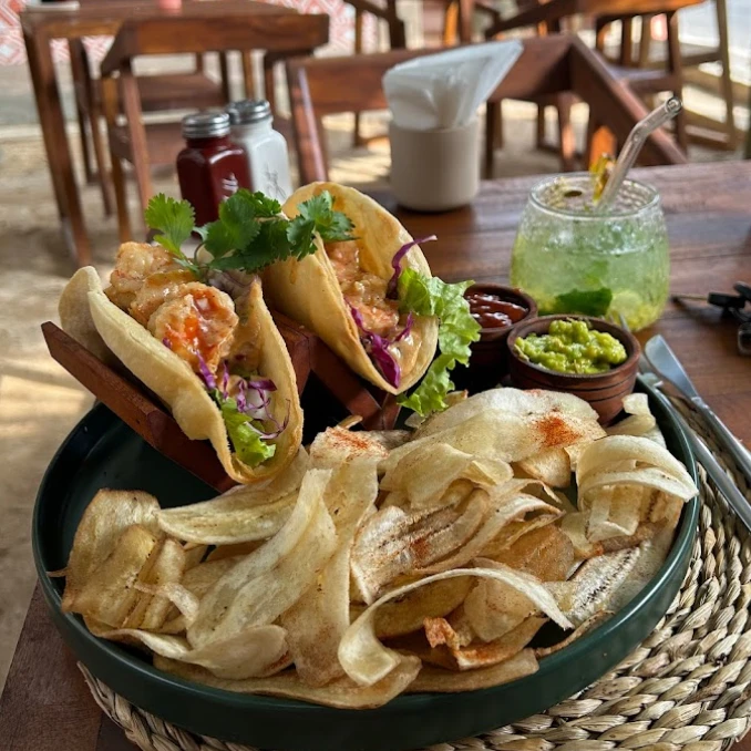
[[(685, 436), (651, 399), (670, 451), (696, 477)], [(699, 502), (687, 504), (665, 565), (628, 606), (570, 647), (539, 663), (534, 676), (491, 689), (414, 695), (373, 710), (337, 710), (299, 701), (244, 696), (155, 670), (147, 659), (93, 637), (78, 616), (60, 610), (61, 579), (81, 515), (101, 487), (141, 488), (166, 506), (213, 491), (152, 450), (100, 405), (73, 430), (42, 481), (33, 518), (37, 570), (55, 626), (91, 672), (142, 709), (196, 733), (278, 751), (404, 751), (492, 730), (539, 712), (596, 681), (652, 630), (678, 593), (697, 528)]]

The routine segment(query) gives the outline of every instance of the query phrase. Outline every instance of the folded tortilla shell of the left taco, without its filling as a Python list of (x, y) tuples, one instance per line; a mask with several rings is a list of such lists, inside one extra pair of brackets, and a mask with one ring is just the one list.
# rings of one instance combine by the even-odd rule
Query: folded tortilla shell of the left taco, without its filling
[(272, 412), (279, 422), (285, 419), (289, 403), (289, 422), (276, 441), (274, 456), (255, 469), (233, 455), (222, 413), (198, 375), (147, 329), (110, 301), (93, 267), (76, 271), (60, 300), (63, 329), (94, 353), (102, 352), (104, 344), (162, 399), (189, 439), (212, 442), (227, 474), (239, 483), (267, 481), (281, 472), (291, 463), (302, 439), (302, 410), (295, 371), (258, 281), (250, 287), (247, 316), (240, 316), (238, 326), (250, 326), (251, 317), (260, 319), (259, 370), (277, 387)]

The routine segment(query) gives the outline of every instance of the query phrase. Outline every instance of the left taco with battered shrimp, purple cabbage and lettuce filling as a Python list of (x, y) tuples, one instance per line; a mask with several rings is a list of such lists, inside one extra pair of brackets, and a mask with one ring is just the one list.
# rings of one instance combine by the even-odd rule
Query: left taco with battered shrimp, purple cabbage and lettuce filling
[(110, 286), (80, 269), (60, 299), (63, 329), (100, 358), (114, 354), (208, 439), (239, 483), (270, 480), (300, 447), (302, 411), (285, 342), (258, 277), (223, 291), (158, 245), (120, 247)]

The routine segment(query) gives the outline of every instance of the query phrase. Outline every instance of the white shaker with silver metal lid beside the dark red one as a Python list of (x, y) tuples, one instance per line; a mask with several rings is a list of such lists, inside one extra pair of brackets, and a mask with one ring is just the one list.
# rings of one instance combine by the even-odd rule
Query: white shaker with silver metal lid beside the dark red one
[(289, 154), (281, 133), (271, 127), (271, 106), (266, 100), (243, 100), (227, 106), (233, 141), (243, 146), (254, 191), (286, 200), (292, 193)]

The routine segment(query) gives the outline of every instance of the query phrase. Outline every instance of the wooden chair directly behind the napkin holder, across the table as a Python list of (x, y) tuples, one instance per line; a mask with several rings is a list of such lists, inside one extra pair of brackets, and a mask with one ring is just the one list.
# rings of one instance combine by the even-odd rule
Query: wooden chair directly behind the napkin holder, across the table
[[(397, 63), (435, 50), (395, 50), (344, 58), (295, 58), (287, 61), (292, 107), (292, 133), (300, 183), (328, 178), (322, 119), (341, 112), (387, 109), (383, 74)], [(573, 93), (587, 102), (593, 115), (613, 137), (623, 141), (647, 114), (644, 104), (607, 70), (577, 38), (528, 39), (508, 75), (490, 99), (529, 99)], [(495, 107), (487, 107), (487, 131), (494, 130)], [(493, 144), (486, 144), (485, 168), (493, 167)], [(662, 132), (652, 134), (641, 153), (644, 164), (682, 164), (683, 153)]]

